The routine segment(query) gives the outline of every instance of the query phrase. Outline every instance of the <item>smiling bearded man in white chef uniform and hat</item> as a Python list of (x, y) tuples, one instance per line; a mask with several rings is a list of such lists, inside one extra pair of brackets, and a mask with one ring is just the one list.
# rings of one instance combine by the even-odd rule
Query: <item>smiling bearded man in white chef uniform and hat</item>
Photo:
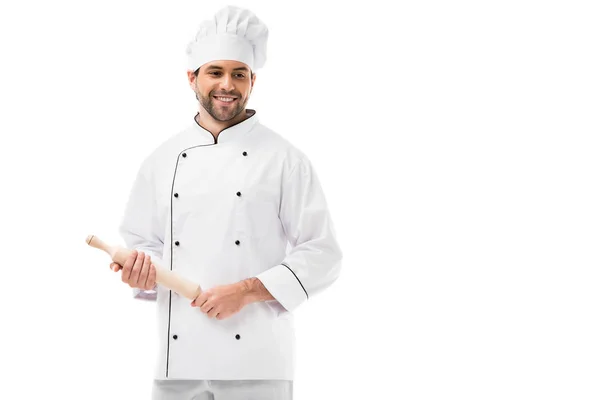
[[(237, 7), (200, 25), (187, 47), (199, 111), (144, 159), (125, 206), (120, 233), (136, 251), (111, 267), (157, 304), (153, 399), (292, 399), (293, 312), (340, 273), (314, 167), (246, 109), (267, 38)], [(156, 285), (154, 264), (202, 294)]]

